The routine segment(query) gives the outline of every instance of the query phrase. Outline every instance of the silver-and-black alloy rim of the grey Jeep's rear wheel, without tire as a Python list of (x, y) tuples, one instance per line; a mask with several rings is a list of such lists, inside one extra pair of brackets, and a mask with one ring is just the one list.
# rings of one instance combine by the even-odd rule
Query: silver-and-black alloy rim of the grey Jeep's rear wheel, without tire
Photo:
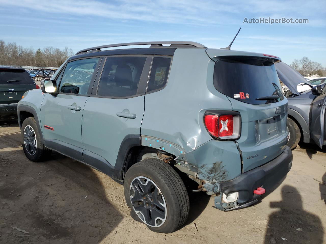
[(160, 227), (167, 216), (166, 202), (158, 186), (149, 178), (139, 176), (130, 185), (130, 200), (138, 217), (151, 227)]

